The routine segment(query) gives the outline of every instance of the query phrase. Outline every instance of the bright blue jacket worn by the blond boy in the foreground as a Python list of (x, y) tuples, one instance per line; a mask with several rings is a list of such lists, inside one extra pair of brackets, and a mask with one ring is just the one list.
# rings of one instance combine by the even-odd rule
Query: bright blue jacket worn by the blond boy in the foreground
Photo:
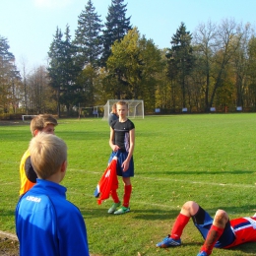
[(16, 208), (20, 256), (89, 256), (87, 229), (67, 189), (37, 179)]

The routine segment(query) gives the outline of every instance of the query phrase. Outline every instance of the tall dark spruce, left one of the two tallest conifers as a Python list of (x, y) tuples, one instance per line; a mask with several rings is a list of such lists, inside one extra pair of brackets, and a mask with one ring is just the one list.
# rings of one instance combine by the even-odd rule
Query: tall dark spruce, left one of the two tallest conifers
[(95, 12), (91, 0), (88, 1), (86, 10), (82, 11), (78, 20), (74, 43), (78, 47), (79, 63), (83, 68), (85, 65), (98, 66), (99, 57), (102, 53), (102, 36), (100, 35), (101, 20)]

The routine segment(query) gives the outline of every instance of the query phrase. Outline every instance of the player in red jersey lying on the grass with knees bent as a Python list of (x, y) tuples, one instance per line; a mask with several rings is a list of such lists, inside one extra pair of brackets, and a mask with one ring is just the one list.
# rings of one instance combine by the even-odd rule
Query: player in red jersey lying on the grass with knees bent
[(218, 210), (213, 219), (196, 202), (188, 201), (182, 206), (170, 234), (157, 247), (181, 245), (180, 236), (190, 218), (205, 239), (197, 256), (211, 255), (214, 247), (227, 249), (245, 242), (256, 242), (256, 216), (229, 220), (224, 210)]

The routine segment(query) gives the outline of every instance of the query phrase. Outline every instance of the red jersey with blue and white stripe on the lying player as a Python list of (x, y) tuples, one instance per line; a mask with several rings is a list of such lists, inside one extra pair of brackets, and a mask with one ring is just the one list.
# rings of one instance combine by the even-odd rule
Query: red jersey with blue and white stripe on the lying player
[(245, 242), (256, 242), (256, 217), (233, 219), (230, 221), (230, 224), (235, 239), (224, 248), (233, 247)]

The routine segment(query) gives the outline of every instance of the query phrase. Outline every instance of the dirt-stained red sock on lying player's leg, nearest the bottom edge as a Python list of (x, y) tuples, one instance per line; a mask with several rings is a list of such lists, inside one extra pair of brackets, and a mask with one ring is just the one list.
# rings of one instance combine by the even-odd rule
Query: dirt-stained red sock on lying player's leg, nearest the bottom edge
[(205, 251), (208, 255), (212, 254), (213, 248), (216, 244), (216, 242), (219, 240), (221, 235), (224, 232), (224, 228), (218, 227), (214, 224), (212, 224), (204, 245), (201, 248), (201, 251)]

